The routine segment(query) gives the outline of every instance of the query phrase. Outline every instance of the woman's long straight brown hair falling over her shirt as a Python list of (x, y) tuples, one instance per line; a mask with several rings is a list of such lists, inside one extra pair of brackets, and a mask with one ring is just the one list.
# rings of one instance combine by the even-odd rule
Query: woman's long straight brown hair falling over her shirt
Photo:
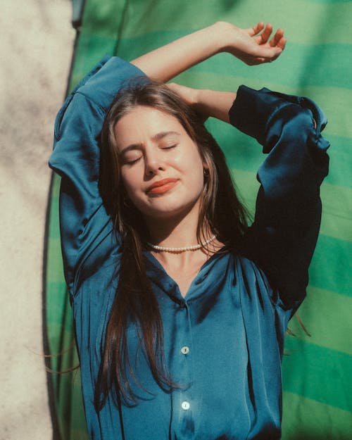
[(134, 322), (139, 331), (140, 344), (158, 385), (164, 391), (177, 386), (165, 367), (163, 323), (144, 266), (142, 251), (149, 232), (142, 215), (128, 199), (120, 177), (114, 128), (122, 116), (137, 106), (156, 108), (177, 118), (207, 164), (196, 231), (199, 242), (203, 241), (206, 231), (210, 229), (227, 249), (234, 251), (239, 249), (247, 229), (246, 210), (237, 197), (225, 156), (199, 116), (164, 84), (144, 80), (122, 90), (113, 101), (101, 132), (99, 189), (113, 220), (114, 230), (122, 240), (122, 256), (118, 274), (120, 279), (106, 328), (96, 384), (96, 410), (101, 410), (112, 389), (114, 395), (122, 395), (127, 403), (137, 403), (137, 396), (127, 379), (127, 372), (134, 377), (127, 350), (127, 327), (130, 322)]

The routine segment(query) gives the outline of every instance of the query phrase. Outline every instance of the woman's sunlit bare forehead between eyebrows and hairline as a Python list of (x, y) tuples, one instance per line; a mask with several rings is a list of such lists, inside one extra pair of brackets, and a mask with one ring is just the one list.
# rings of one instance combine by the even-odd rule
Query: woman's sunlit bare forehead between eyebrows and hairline
[(146, 106), (137, 106), (122, 116), (114, 127), (118, 149), (123, 149), (129, 144), (143, 143), (160, 132), (174, 132), (188, 137), (175, 116)]

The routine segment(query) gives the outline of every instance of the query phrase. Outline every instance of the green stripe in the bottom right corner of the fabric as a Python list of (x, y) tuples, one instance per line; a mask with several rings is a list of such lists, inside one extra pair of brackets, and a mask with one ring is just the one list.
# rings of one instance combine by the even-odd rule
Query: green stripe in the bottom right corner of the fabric
[(284, 391), (282, 440), (349, 440), (352, 414)]

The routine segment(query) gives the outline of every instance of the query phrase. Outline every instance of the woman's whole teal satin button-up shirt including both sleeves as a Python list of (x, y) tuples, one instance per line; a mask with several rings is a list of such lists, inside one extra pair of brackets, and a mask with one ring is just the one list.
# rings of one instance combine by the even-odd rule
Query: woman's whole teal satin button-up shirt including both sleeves
[[(256, 217), (237, 254), (215, 253), (183, 298), (149, 251), (172, 392), (159, 388), (130, 325), (128, 350), (141, 387), (135, 406), (109, 396), (94, 410), (94, 384), (118, 285), (120, 239), (99, 195), (99, 133), (116, 92), (143, 73), (104, 58), (58, 113), (50, 166), (61, 177), (65, 279), (80, 354), (87, 427), (94, 440), (275, 440), (281, 436), (281, 361), (289, 318), (306, 294), (320, 225), (329, 143), (320, 108), (296, 96), (241, 86), (232, 125), (267, 154), (258, 170)], [(316, 122), (314, 127), (313, 118)], [(229, 222), (231, 219), (229, 219)]]

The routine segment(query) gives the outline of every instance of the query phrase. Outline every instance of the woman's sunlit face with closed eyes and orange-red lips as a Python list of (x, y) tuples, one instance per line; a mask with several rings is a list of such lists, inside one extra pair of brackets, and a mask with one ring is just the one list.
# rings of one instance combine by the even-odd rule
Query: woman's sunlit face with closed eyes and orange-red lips
[(137, 106), (115, 125), (115, 139), (125, 189), (145, 218), (199, 208), (206, 165), (175, 117)]

